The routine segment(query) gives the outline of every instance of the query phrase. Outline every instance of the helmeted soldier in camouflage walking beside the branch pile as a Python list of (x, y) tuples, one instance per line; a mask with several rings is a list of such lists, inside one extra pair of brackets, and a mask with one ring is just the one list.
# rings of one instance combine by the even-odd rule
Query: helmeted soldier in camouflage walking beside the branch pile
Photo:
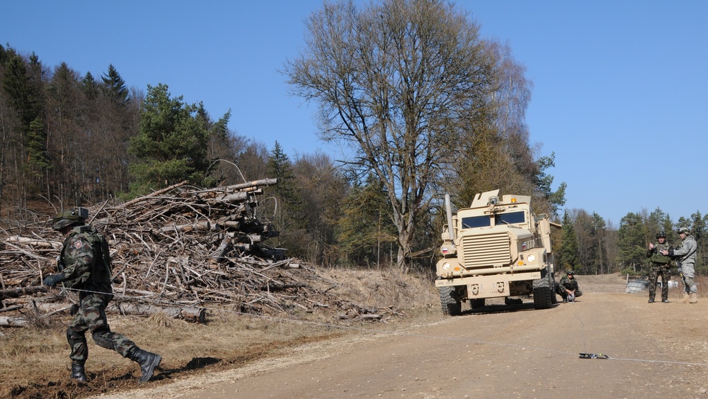
[(113, 349), (123, 357), (140, 365), (140, 382), (152, 378), (162, 356), (137, 347), (124, 335), (110, 331), (105, 318), (105, 307), (113, 299), (110, 286), (110, 253), (108, 242), (91, 225), (84, 225), (89, 217), (86, 208), (74, 208), (59, 213), (52, 219), (52, 228), (65, 236), (62, 253), (57, 258), (58, 274), (47, 276), (46, 286), (53, 287), (63, 281), (64, 286), (79, 291), (79, 310), (67, 329), (67, 339), (72, 348), (71, 378), (86, 381), (84, 364), (89, 357), (86, 331), (91, 331), (99, 347)]

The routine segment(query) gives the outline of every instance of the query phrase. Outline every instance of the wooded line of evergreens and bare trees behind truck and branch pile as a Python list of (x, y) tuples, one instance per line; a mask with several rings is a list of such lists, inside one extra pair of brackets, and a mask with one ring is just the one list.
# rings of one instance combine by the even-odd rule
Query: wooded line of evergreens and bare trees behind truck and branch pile
[[(230, 111), (214, 119), (163, 83), (128, 89), (112, 64), (96, 78), (0, 45), (1, 215), (125, 201), (183, 180), (274, 177), (255, 211), (290, 256), (400, 269), (438, 259), (445, 193), (458, 208), (482, 191), (523, 193), (537, 213), (559, 218), (566, 184), (554, 185), (554, 154), (540, 154), (525, 123), (532, 82), (466, 13), (446, 1), (343, 0), (305, 26), (304, 50), (282, 73), (292, 94), (319, 107), (320, 139), (348, 151), (337, 161), (322, 152), (290, 159), (278, 142), (229, 130)], [(637, 217), (640, 231), (630, 214), (615, 228), (566, 212), (553, 236), (559, 264), (636, 268), (638, 237), (658, 226), (652, 215)]]

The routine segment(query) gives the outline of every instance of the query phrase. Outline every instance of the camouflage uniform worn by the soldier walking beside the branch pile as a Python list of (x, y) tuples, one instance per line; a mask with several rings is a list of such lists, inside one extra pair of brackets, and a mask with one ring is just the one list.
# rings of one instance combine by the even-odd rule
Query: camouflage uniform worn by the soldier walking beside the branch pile
[(89, 356), (87, 330), (91, 330), (99, 347), (128, 357), (135, 343), (124, 335), (111, 332), (105, 318), (105, 307), (113, 299), (108, 243), (93, 227), (77, 226), (64, 239), (60, 259), (64, 268), (59, 274), (64, 277), (64, 286), (79, 291), (79, 311), (67, 330), (72, 347), (69, 357), (74, 361), (86, 361)]

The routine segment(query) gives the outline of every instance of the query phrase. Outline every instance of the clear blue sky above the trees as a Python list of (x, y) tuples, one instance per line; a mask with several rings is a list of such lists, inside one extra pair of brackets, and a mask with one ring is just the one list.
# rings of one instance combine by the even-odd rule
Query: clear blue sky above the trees
[[(212, 118), (294, 159), (316, 150), (314, 106), (278, 72), (304, 45), (320, 0), (5, 1), (0, 43), (128, 86), (164, 83)], [(617, 225), (657, 207), (708, 212), (708, 1), (458, 1), (485, 38), (508, 43), (534, 83), (527, 123), (555, 153), (566, 208)], [(555, 188), (555, 187), (554, 187)]]

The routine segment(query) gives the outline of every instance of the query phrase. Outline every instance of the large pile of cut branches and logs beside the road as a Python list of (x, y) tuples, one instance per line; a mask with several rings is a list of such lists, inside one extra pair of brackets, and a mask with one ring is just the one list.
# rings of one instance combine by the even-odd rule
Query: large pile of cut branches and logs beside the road
[[(167, 311), (199, 322), (205, 308), (215, 306), (259, 315), (361, 308), (329, 295), (333, 283), (285, 257), (285, 249), (265, 245), (278, 232), (256, 218), (256, 198), (263, 186), (276, 183), (264, 179), (199, 189), (183, 182), (118, 206), (89, 208), (89, 223), (111, 248), (113, 307), (122, 313)], [(1, 230), (0, 305), (5, 309), (13, 305), (9, 298), (28, 294), (35, 294), (34, 305), (59, 297), (75, 301), (69, 290), (57, 296), (52, 291), (58, 290), (42, 286), (44, 276), (57, 272), (63, 240), (50, 227), (42, 220)], [(37, 293), (48, 295), (38, 298)]]

